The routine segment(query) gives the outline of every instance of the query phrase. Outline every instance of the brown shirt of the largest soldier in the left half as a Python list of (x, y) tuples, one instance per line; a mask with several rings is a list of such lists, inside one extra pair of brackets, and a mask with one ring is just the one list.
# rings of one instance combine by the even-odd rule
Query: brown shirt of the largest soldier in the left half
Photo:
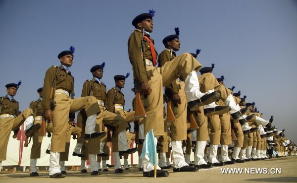
[(52, 83), (54, 81), (56, 69), (59, 68), (58, 74), (56, 77), (56, 87), (55, 89), (63, 89), (71, 93), (71, 97), (73, 98), (74, 94), (74, 77), (71, 75), (70, 71), (66, 73), (66, 70), (64, 69), (63, 65), (58, 66), (51, 66), (46, 72), (45, 81), (43, 85), (43, 99), (42, 99), (42, 105), (44, 107), (44, 110), (50, 109), (50, 88), (52, 86)]

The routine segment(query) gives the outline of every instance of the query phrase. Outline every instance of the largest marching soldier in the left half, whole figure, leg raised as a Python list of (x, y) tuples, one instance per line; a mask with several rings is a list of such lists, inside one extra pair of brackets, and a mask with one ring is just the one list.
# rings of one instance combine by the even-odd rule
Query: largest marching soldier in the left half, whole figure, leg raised
[(61, 65), (49, 67), (44, 80), (42, 105), (45, 118), (53, 123), (49, 157), (50, 178), (65, 177), (60, 170), (59, 159), (60, 152), (65, 152), (68, 121), (73, 121), (74, 112), (85, 111), (85, 138), (99, 138), (105, 134), (95, 131), (96, 116), (100, 112), (96, 98), (90, 96), (73, 99), (74, 77), (69, 70), (73, 63), (73, 53), (74, 49), (58, 54)]

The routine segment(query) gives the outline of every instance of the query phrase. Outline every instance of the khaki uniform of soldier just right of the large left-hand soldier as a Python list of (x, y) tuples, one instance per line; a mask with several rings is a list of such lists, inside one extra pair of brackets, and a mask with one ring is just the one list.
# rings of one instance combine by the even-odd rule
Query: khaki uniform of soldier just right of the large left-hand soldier
[[(84, 83), (82, 96), (88, 96), (91, 91), (92, 80), (87, 80)], [(93, 96), (98, 100), (100, 113), (97, 115), (96, 118), (96, 128), (95, 131), (101, 132), (105, 128), (103, 127), (104, 124), (111, 125), (115, 127), (113, 131), (113, 138), (112, 143), (117, 144), (117, 134), (123, 130), (126, 130), (129, 125), (125, 119), (122, 117), (107, 111), (107, 109), (102, 105), (103, 103), (106, 104), (106, 86), (104, 83), (99, 83), (97, 80), (94, 81), (92, 87)], [(103, 103), (102, 103), (103, 102)], [(89, 147), (89, 154), (99, 154), (100, 148), (94, 148), (96, 146), (99, 147), (100, 139), (91, 139), (88, 140), (88, 147)], [(113, 146), (113, 152), (118, 151), (118, 145)]]

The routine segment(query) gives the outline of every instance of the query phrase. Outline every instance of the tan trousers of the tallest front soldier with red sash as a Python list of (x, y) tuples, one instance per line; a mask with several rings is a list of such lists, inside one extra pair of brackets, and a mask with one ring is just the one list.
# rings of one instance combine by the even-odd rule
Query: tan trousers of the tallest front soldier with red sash
[(147, 65), (153, 76), (148, 81), (152, 89), (148, 95), (148, 109), (145, 118), (145, 134), (150, 129), (156, 136), (163, 135), (163, 87), (181, 77), (182, 80), (193, 70), (198, 71), (202, 65), (189, 53), (184, 53), (172, 61), (167, 61), (162, 67), (155, 68)]

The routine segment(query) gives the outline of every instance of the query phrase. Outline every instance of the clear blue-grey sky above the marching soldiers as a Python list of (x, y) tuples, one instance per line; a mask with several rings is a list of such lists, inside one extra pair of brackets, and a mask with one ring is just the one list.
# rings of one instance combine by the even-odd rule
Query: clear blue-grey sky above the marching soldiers
[(297, 142), (297, 0), (0, 0), (0, 95), (21, 80), (15, 99), (20, 110), (28, 108), (46, 70), (59, 65), (58, 53), (73, 45), (75, 97), (92, 79), (90, 68), (105, 61), (107, 90), (114, 75), (131, 72), (123, 92), (125, 109), (132, 108), (127, 41), (132, 19), (151, 8), (159, 53), (162, 39), (179, 27), (177, 54), (201, 49), (203, 66), (215, 63), (216, 77), (254, 101), (264, 119), (274, 115)]

